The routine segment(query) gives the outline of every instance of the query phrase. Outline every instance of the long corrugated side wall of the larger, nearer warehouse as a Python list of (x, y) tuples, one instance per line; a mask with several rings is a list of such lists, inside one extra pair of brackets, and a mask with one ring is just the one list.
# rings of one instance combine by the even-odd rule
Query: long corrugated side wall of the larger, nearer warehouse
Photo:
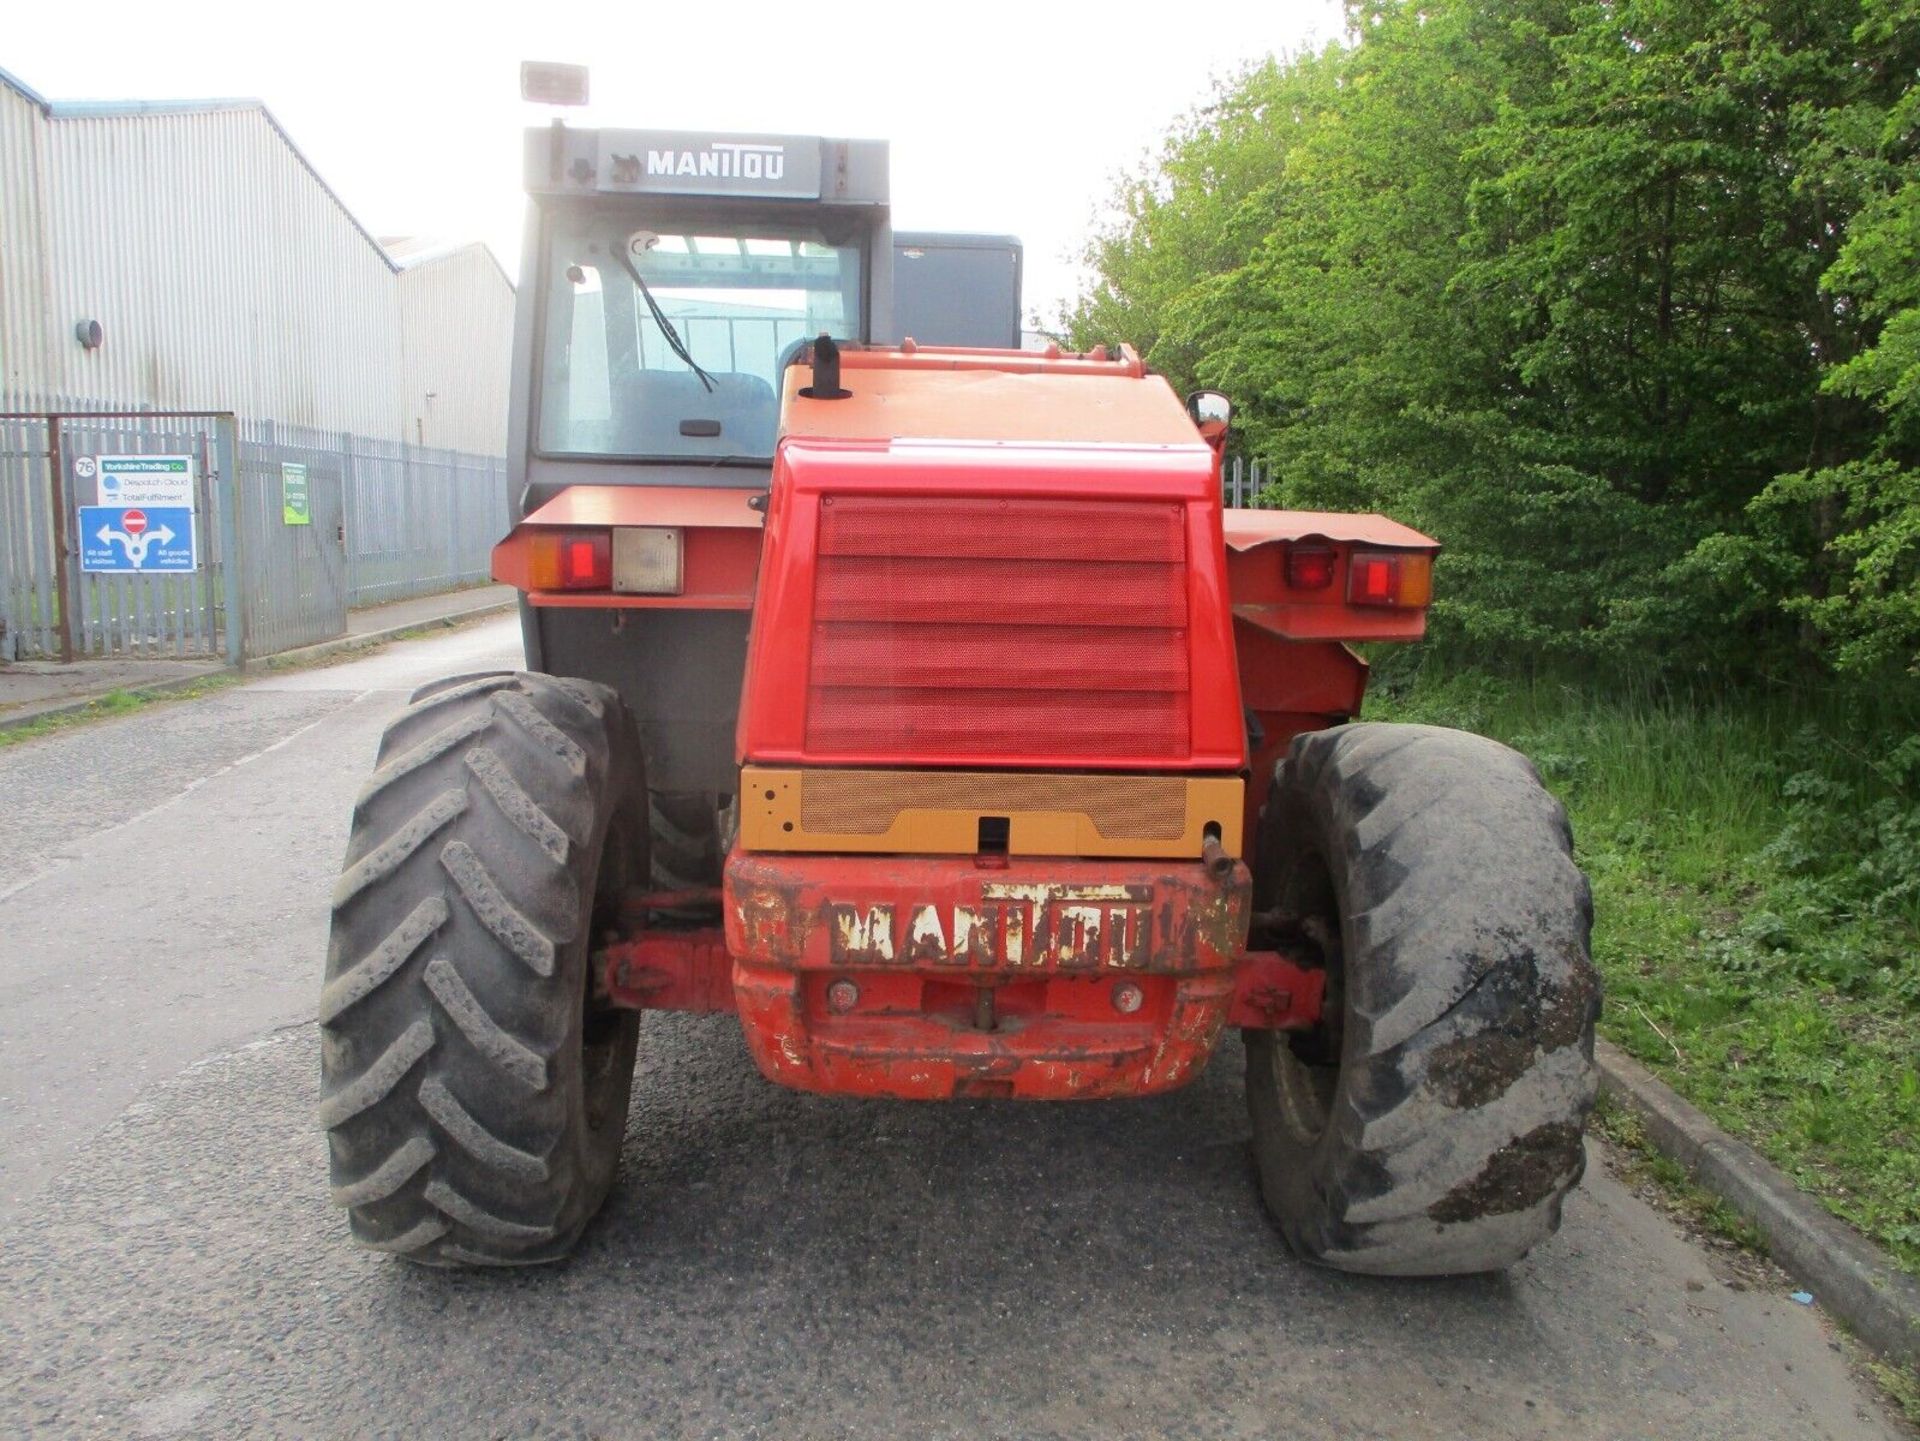
[(392, 265), (265, 111), (56, 107), (46, 154), (56, 328), (106, 332), (48, 397), (403, 436)]

